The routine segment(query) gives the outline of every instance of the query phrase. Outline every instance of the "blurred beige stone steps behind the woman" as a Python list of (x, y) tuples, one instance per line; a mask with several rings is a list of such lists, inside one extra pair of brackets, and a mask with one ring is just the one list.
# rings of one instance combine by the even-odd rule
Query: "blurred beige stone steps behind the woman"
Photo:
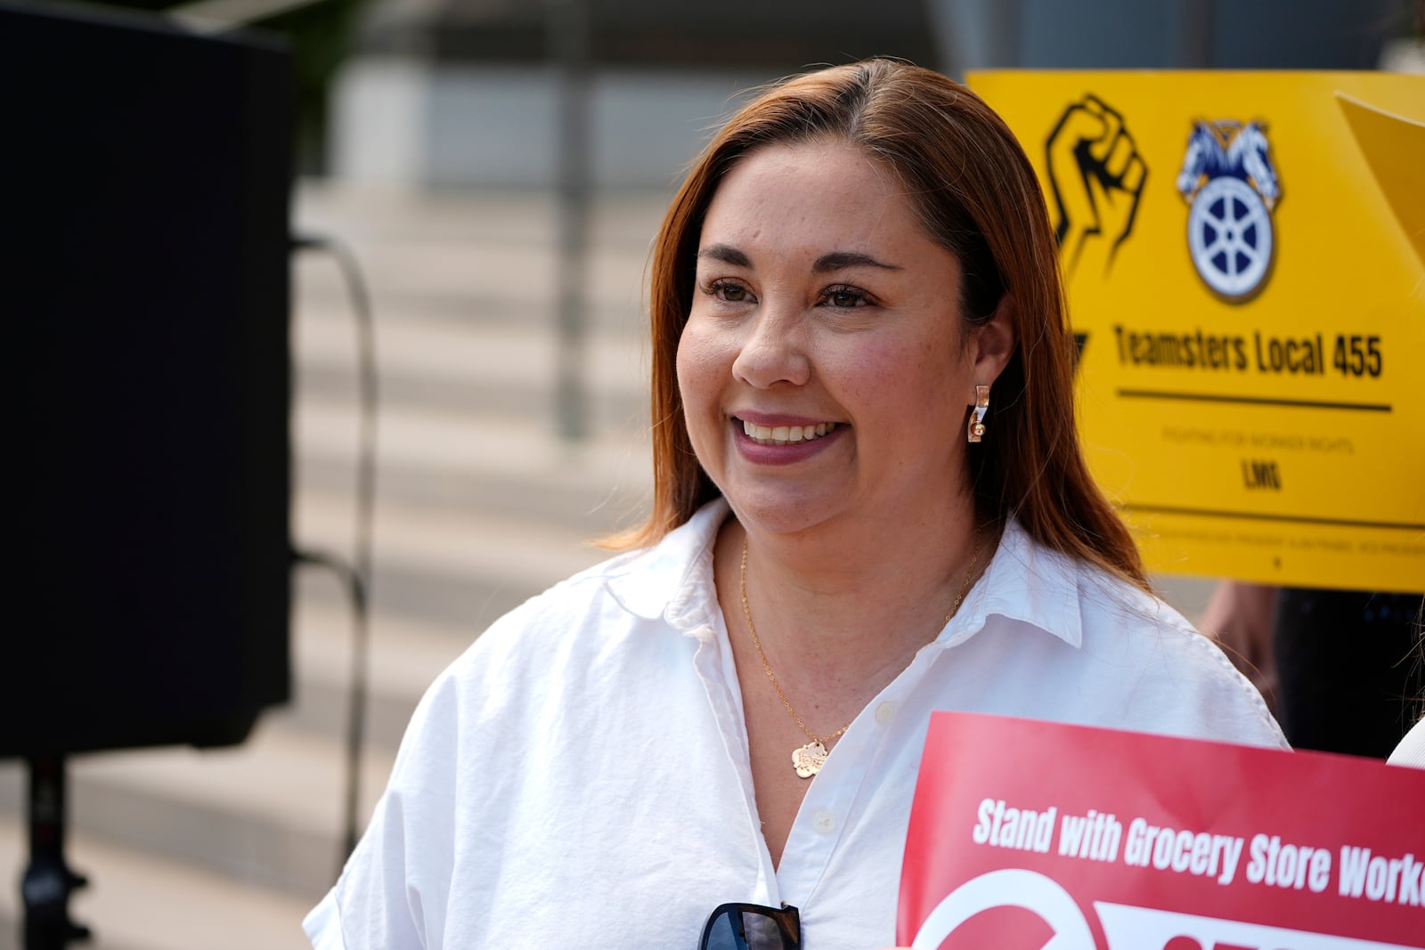
[[(667, 195), (600, 195), (583, 282), (587, 437), (557, 434), (556, 207), (529, 194), (299, 188), (304, 232), (362, 262), (379, 348), (369, 815), (430, 679), (502, 612), (603, 551), (648, 494), (644, 273)], [(358, 400), (351, 305), (336, 265), (294, 263), (294, 537), (349, 555)], [(1190, 615), (1207, 585), (1160, 578)], [(91, 886), (71, 914), (95, 950), (298, 950), (335, 879), (351, 617), (338, 583), (302, 568), (294, 701), (231, 749), (80, 756), (70, 865)], [(24, 773), (0, 762), (0, 950), (19, 947)]]

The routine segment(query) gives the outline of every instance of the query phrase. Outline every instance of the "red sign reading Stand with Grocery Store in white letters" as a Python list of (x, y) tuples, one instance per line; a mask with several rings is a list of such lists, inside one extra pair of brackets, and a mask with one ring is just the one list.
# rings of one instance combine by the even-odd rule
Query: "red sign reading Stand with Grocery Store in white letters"
[(938, 712), (901, 877), (916, 950), (1425, 947), (1425, 771)]

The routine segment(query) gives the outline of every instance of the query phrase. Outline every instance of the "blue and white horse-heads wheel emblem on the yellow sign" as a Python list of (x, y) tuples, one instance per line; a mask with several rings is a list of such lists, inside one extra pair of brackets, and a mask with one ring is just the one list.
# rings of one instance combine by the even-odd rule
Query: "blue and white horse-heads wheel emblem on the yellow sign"
[(1194, 122), (1177, 189), (1191, 205), (1187, 246), (1198, 276), (1240, 303), (1255, 296), (1273, 259), (1271, 211), (1281, 181), (1260, 122)]

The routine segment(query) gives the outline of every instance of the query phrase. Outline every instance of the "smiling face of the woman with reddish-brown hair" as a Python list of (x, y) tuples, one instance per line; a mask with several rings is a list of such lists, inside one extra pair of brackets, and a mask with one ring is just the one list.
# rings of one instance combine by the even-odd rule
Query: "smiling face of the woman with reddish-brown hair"
[(770, 145), (735, 165), (703, 224), (677, 366), (693, 449), (738, 517), (799, 531), (962, 514), (965, 410), (1012, 335), (996, 318), (962, 348), (959, 301), (959, 262), (859, 150)]

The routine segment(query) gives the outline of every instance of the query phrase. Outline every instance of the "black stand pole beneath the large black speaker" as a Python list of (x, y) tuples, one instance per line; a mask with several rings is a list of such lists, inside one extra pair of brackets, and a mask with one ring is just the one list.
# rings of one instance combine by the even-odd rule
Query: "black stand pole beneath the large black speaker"
[(30, 766), (30, 866), (24, 869), (24, 950), (66, 950), (88, 940), (70, 920), (70, 892), (88, 880), (64, 863), (64, 756), (27, 759)]

